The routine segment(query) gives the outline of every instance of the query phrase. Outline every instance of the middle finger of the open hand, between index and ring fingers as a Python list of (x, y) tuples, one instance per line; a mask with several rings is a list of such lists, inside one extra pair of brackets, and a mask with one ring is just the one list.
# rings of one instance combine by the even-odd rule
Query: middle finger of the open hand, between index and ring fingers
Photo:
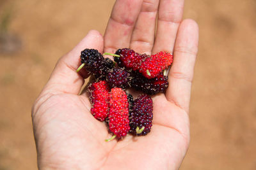
[(144, 0), (132, 33), (130, 48), (139, 53), (151, 54), (156, 27), (159, 0)]

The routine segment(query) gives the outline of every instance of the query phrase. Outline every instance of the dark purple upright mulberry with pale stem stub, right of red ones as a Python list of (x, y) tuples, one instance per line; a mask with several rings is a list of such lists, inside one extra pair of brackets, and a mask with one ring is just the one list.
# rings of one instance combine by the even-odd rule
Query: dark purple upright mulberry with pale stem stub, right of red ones
[[(153, 120), (153, 102), (147, 94), (141, 94), (134, 100), (130, 114), (130, 132), (134, 135), (146, 135), (150, 132)], [(143, 129), (144, 128), (144, 129)], [(141, 132), (141, 130), (143, 130)], [(138, 134), (140, 132), (140, 134)]]

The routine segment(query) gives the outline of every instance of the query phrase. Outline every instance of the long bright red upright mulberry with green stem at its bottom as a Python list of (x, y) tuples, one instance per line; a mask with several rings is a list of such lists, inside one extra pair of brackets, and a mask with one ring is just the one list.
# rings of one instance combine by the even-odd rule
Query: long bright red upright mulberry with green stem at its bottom
[(129, 126), (129, 104), (127, 95), (121, 88), (113, 88), (109, 94), (109, 130), (118, 138), (126, 136)]

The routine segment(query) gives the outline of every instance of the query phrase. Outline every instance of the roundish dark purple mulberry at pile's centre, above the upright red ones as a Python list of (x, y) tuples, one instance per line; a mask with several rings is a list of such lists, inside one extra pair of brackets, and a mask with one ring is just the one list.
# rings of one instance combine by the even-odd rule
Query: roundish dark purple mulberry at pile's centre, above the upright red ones
[(112, 88), (127, 89), (131, 85), (131, 75), (125, 69), (114, 67), (106, 74), (106, 81)]

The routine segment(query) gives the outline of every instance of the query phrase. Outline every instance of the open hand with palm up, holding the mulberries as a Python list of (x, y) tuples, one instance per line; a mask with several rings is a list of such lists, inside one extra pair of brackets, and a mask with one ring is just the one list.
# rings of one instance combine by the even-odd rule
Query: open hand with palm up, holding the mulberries
[[(198, 46), (198, 26), (182, 20), (183, 6), (182, 0), (117, 0), (104, 38), (90, 31), (61, 57), (32, 109), (40, 169), (179, 168), (189, 145), (189, 100)], [(84, 48), (114, 53), (124, 47), (148, 54), (173, 52), (170, 85), (165, 94), (152, 97), (154, 118), (147, 136), (128, 134), (106, 142), (112, 134), (90, 113), (86, 92), (79, 95), (88, 76), (85, 71), (76, 73), (79, 53)]]

